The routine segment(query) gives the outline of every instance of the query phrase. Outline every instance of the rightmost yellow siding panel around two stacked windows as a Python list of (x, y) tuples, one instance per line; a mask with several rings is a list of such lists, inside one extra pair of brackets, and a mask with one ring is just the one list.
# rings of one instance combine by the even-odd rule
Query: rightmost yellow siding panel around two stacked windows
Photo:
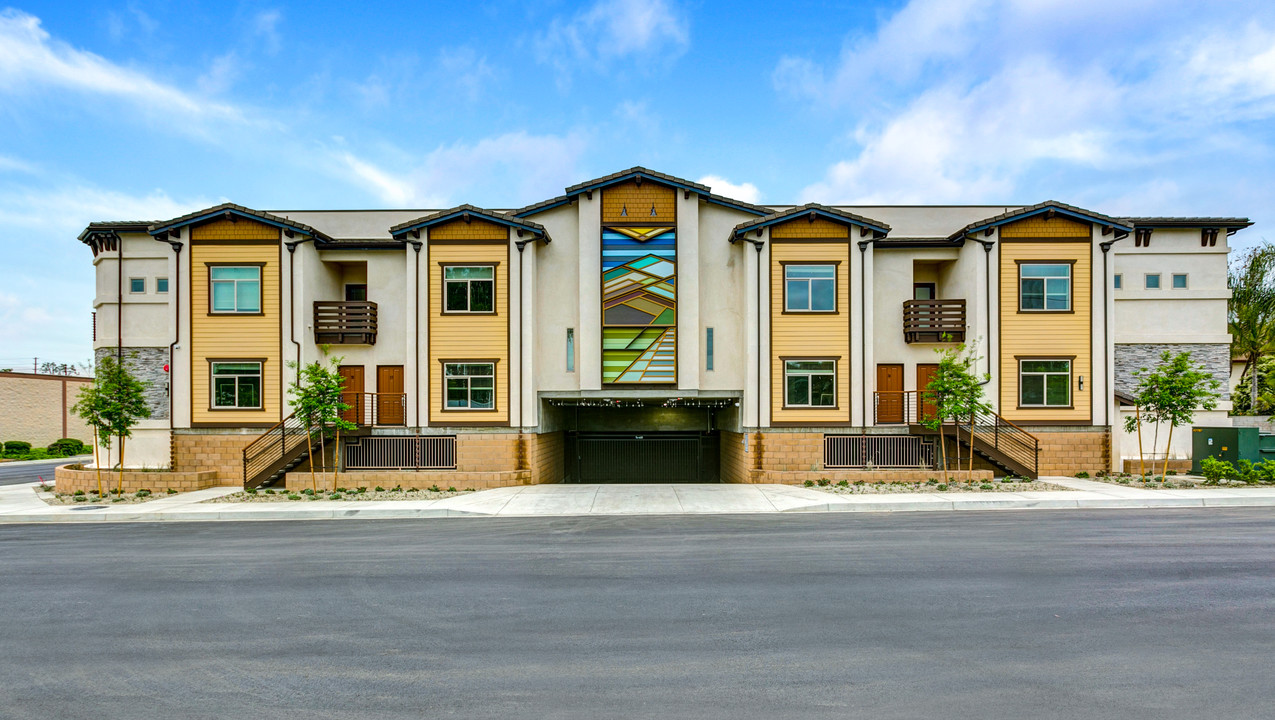
[[(1088, 242), (1009, 242), (1001, 245), (1001, 414), (1016, 423), (1090, 422), (1091, 246)], [(1017, 260), (1070, 261), (1075, 312), (1019, 312)], [(1019, 409), (1019, 357), (1075, 356), (1071, 409)], [(1077, 390), (1085, 376), (1085, 389)]]

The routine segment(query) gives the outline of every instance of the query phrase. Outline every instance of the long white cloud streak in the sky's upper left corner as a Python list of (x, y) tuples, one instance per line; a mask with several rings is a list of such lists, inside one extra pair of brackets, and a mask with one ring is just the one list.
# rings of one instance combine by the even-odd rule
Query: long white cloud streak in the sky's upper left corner
[(231, 104), (193, 96), (52, 40), (34, 15), (0, 10), (0, 94), (54, 89), (122, 98), (181, 122), (246, 122), (244, 113)]

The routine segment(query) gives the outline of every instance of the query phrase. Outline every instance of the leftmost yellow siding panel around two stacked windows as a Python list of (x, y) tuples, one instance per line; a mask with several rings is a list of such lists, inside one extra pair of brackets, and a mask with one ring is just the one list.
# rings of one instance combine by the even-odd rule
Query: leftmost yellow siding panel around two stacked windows
[[(213, 223), (209, 223), (213, 224)], [(240, 220), (233, 226), (259, 226)], [(208, 226), (201, 226), (208, 227)], [(266, 227), (269, 226), (259, 226)], [(279, 237), (279, 231), (274, 238)], [(224, 236), (205, 240), (226, 240)], [(264, 263), (261, 268), (261, 315), (209, 315), (208, 263)], [(190, 353), (191, 421), (195, 423), (275, 423), (288, 410), (279, 407), (279, 246), (190, 245)], [(210, 410), (209, 359), (265, 358), (261, 372), (261, 410)]]

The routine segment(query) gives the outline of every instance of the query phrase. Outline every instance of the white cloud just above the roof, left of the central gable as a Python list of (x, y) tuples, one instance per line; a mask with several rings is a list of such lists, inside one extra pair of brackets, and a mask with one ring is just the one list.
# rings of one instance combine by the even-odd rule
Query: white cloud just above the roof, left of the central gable
[[(578, 178), (586, 139), (579, 134), (509, 133), (477, 143), (454, 143), (397, 172), (333, 153), (337, 171), (390, 206), (448, 208), (462, 203), (524, 204), (551, 198)], [(397, 154), (397, 153), (395, 153)]]

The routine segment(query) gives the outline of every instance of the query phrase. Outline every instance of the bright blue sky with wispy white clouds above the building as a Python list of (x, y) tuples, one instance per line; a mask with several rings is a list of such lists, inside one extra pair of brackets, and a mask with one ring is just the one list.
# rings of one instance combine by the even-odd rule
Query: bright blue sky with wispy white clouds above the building
[[(4, 0), (0, 0), (0, 8)], [(1275, 4), (0, 9), (0, 366), (91, 357), (94, 219), (515, 206), (645, 164), (762, 203), (1275, 223)]]

